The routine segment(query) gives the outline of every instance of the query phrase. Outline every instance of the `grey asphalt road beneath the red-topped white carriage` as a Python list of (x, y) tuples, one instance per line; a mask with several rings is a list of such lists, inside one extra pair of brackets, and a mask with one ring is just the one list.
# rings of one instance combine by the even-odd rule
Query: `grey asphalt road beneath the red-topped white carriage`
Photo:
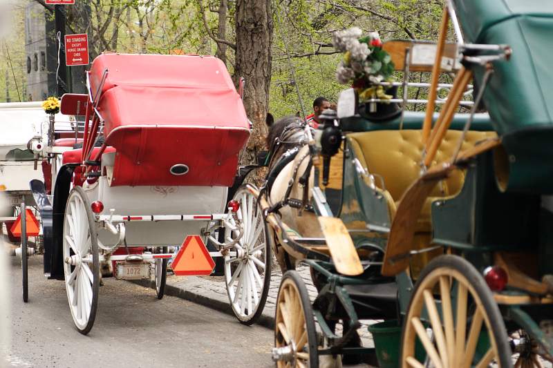
[[(274, 367), (272, 331), (151, 289), (104, 279), (93, 330), (73, 327), (62, 281), (45, 280), (30, 258), (29, 302), (10, 260), (12, 342), (8, 367)], [(0, 357), (0, 367), (5, 364)]]

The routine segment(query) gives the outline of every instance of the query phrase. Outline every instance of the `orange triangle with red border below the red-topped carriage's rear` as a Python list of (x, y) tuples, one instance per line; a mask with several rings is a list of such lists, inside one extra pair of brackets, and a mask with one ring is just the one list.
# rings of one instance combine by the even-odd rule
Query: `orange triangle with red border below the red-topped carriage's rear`
[(178, 250), (171, 268), (175, 275), (211, 275), (215, 262), (199, 235), (188, 235)]

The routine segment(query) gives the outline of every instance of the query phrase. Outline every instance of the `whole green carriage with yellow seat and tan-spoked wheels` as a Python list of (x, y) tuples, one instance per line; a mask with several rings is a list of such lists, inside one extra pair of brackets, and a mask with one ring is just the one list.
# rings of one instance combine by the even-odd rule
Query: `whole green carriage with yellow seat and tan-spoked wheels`
[[(444, 42), (448, 18), (456, 44)], [(359, 116), (353, 94), (344, 93), (339, 125), (327, 114), (317, 137), (306, 133), (304, 155), (286, 158), (297, 162), (294, 180), (315, 166), (309, 204), (305, 195), (276, 204), (265, 186), (250, 186), (275, 253), (288, 260), (281, 266), (308, 264), (318, 290), (310, 300), (299, 275), (285, 273), (273, 351), (279, 367), (318, 367), (321, 356), (350, 354), (376, 355), (382, 367), (553, 362), (553, 5), (455, 0), (444, 6), (440, 33), (432, 65), (413, 53), (429, 43), (383, 46), (396, 68), (432, 71), (427, 113), (376, 121), (368, 108)], [(437, 76), (447, 68), (456, 79), (438, 115)], [(471, 80), (471, 113), (458, 114)], [(380, 108), (379, 101), (367, 104)], [(475, 113), (480, 104), (487, 114)], [(337, 147), (325, 144), (337, 131), (343, 171), (332, 211), (317, 160), (322, 155), (328, 167)], [(285, 206), (303, 222), (317, 218), (322, 235), (285, 224), (277, 215)], [(353, 343), (366, 319), (384, 320), (369, 328), (375, 348)]]

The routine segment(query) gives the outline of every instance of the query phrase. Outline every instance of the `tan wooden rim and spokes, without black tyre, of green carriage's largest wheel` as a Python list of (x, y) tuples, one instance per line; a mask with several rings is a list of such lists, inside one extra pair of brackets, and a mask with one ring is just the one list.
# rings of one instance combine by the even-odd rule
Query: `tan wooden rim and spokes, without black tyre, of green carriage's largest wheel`
[[(458, 282), (458, 289), (451, 290), (453, 280)], [(439, 288), (442, 300), (442, 316), (438, 313), (437, 302), (433, 289)], [(451, 302), (453, 292), (458, 300), (465, 300), (456, 306)], [(474, 300), (474, 316), (467, 321), (466, 300), (470, 296)], [(447, 302), (449, 300), (449, 303)], [(465, 304), (465, 307), (462, 305)], [(432, 329), (433, 341), (429, 338), (427, 329), (420, 320), (423, 306), (429, 316), (429, 327)], [(455, 309), (453, 309), (455, 308)], [(477, 316), (478, 314), (478, 316)], [(429, 273), (413, 295), (411, 307), (406, 317), (403, 339), (403, 367), (470, 367), (476, 355), (476, 344), (482, 327), (488, 331), (491, 346), (476, 363), (476, 367), (489, 367), (494, 360), (498, 364), (498, 345), (491, 329), (491, 323), (482, 305), (480, 296), (469, 280), (457, 270), (440, 267)], [(427, 352), (427, 364), (415, 358), (415, 340), (422, 341)], [(467, 365), (467, 362), (469, 365)], [(500, 366), (500, 365), (495, 365)]]

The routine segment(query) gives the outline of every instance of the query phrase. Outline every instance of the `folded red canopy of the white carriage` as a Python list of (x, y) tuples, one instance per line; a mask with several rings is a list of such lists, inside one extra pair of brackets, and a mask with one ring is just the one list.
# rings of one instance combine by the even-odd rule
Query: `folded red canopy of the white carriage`
[[(221, 60), (103, 54), (92, 64), (92, 93), (104, 70), (97, 110), (117, 151), (112, 186), (232, 185), (250, 124)], [(189, 171), (175, 175), (174, 165)]]

